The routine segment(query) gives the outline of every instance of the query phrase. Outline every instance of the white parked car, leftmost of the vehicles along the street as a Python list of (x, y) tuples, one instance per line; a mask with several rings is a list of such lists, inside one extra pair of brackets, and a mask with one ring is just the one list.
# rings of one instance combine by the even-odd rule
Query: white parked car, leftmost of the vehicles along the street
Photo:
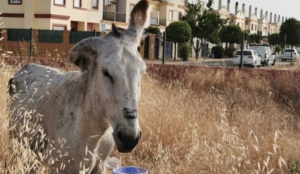
[[(241, 61), (242, 51), (239, 50), (236, 52), (232, 62), (233, 65), (238, 66)], [(255, 50), (244, 50), (243, 51), (243, 65), (261, 67), (261, 58)]]

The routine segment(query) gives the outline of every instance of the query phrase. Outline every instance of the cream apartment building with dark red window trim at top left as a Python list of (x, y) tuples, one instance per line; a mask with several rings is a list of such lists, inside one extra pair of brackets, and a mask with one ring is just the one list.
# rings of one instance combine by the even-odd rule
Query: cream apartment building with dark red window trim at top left
[(102, 19), (99, 0), (3, 0), (6, 28), (97, 30)]

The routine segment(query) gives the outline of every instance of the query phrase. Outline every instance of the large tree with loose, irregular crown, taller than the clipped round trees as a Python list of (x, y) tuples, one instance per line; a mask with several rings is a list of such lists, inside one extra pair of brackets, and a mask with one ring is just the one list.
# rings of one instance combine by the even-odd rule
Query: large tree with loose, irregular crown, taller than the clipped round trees
[[(200, 38), (202, 41), (205, 39), (212, 43), (220, 43), (219, 30), (222, 26), (227, 23), (227, 20), (221, 19), (219, 15), (215, 14), (211, 8), (212, 0), (209, 0), (207, 7), (204, 9), (198, 4), (188, 3), (186, 8), (186, 15), (181, 20), (187, 21), (192, 29), (192, 38)], [(196, 59), (199, 57), (199, 41), (197, 40), (196, 45), (193, 43), (194, 51), (196, 53)]]

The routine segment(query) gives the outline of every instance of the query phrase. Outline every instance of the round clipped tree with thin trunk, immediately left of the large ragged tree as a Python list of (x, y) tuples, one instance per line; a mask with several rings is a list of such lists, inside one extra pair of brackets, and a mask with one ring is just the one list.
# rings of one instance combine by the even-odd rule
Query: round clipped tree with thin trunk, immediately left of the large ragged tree
[[(192, 36), (192, 29), (186, 21), (172, 22), (166, 28), (167, 41), (175, 43), (175, 49), (177, 43), (184, 43), (190, 40)], [(176, 60), (176, 50), (174, 61)]]

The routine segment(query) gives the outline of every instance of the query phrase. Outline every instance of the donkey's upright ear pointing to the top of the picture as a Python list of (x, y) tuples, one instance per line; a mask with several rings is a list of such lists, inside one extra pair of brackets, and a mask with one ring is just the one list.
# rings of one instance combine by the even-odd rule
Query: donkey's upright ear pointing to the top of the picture
[(132, 9), (130, 14), (129, 31), (133, 31), (133, 34), (138, 43), (146, 25), (150, 24), (150, 12), (151, 5), (148, 0), (141, 0)]

